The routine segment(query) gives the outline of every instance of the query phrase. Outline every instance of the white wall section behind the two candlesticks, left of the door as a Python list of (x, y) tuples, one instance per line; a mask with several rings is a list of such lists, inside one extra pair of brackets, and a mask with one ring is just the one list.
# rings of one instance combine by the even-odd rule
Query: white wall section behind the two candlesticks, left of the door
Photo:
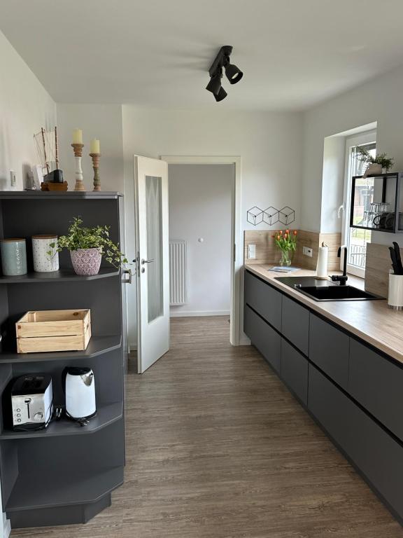
[(75, 161), (71, 139), (74, 129), (83, 129), (84, 184), (92, 191), (94, 172), (90, 157), (90, 141), (98, 138), (101, 145), (99, 175), (103, 191), (124, 191), (122, 106), (119, 104), (57, 104), (59, 121), (60, 167), (69, 189), (74, 188)]

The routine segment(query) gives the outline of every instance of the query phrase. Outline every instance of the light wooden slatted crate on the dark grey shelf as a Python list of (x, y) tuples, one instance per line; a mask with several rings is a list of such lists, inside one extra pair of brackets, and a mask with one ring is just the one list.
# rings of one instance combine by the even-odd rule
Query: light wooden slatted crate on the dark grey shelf
[(91, 310), (34, 310), (15, 324), (18, 353), (80, 351), (91, 338)]

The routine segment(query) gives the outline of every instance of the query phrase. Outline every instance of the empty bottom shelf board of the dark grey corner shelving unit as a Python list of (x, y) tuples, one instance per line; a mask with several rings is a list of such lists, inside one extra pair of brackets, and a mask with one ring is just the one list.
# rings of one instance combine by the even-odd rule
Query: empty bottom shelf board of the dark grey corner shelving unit
[(20, 474), (6, 512), (97, 502), (123, 483), (122, 466), (88, 468), (69, 463), (48, 472), (40, 467)]

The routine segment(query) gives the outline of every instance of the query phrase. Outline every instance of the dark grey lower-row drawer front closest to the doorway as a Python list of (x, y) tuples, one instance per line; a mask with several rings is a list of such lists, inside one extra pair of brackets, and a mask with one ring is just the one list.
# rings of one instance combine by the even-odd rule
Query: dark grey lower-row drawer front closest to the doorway
[(262, 353), (264, 359), (276, 370), (280, 371), (281, 336), (271, 329), (248, 305), (245, 305), (243, 330), (249, 336), (253, 345)]

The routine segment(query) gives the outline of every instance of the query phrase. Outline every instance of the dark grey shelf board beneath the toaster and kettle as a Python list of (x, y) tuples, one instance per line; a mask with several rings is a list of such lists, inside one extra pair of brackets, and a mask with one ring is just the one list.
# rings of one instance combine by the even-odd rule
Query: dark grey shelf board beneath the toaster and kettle
[(81, 427), (78, 422), (62, 418), (59, 421), (54, 420), (47, 428), (37, 432), (14, 432), (11, 429), (5, 429), (0, 434), (0, 441), (93, 434), (122, 418), (122, 402), (106, 403), (99, 406), (97, 412), (97, 416), (92, 418), (87, 426)]

